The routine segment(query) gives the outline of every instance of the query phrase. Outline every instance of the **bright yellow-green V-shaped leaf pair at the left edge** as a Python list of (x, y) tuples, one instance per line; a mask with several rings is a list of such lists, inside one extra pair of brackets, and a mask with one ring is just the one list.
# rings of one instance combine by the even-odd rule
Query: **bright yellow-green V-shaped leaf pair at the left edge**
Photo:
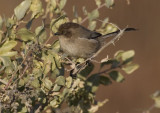
[(17, 54), (16, 51), (10, 51), (11, 49), (13, 49), (15, 46), (17, 45), (17, 42), (16, 41), (6, 41), (2, 47), (0, 48), (0, 56), (8, 56), (8, 57), (11, 57), (11, 56), (14, 56)]

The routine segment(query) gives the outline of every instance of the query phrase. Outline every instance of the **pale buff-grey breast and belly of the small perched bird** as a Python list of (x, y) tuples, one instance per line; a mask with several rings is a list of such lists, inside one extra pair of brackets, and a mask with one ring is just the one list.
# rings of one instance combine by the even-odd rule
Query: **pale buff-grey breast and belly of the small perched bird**
[(59, 38), (60, 46), (69, 56), (88, 58), (99, 49), (99, 42), (85, 38)]

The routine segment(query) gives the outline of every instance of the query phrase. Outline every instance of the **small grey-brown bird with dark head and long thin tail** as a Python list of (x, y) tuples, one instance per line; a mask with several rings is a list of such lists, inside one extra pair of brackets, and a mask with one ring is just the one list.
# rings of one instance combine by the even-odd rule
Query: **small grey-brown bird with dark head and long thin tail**
[[(135, 30), (126, 28), (125, 31)], [(71, 57), (90, 58), (103, 45), (106, 38), (116, 36), (120, 31), (102, 35), (77, 23), (64, 23), (60, 25), (55, 35), (59, 36), (61, 50)]]

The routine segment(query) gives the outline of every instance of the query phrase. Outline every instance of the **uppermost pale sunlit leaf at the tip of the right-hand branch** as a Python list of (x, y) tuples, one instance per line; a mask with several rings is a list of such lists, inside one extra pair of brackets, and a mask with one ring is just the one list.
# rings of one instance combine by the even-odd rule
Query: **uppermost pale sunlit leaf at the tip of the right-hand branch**
[(125, 51), (122, 54), (122, 60), (126, 61), (127, 59), (133, 58), (135, 55), (134, 50)]

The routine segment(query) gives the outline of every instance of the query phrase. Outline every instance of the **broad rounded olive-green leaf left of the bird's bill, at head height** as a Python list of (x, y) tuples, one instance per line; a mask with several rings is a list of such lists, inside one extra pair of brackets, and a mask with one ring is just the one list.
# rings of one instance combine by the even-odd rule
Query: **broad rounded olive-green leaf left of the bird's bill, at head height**
[(18, 35), (20, 35), (23, 41), (30, 41), (34, 40), (35, 34), (29, 31), (26, 28), (22, 28), (18, 31)]

